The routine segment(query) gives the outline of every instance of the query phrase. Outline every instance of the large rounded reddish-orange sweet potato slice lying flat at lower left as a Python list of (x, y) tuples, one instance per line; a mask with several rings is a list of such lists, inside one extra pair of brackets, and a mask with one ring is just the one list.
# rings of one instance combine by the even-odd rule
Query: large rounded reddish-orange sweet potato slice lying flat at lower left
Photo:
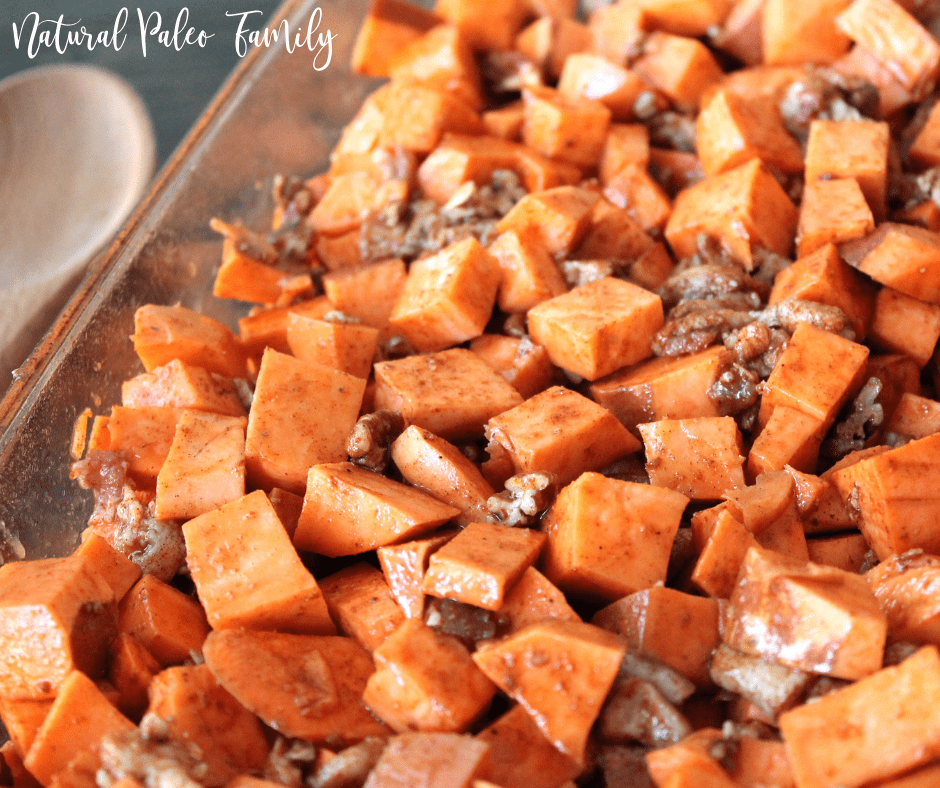
[(375, 668), (350, 638), (230, 629), (213, 632), (204, 653), (219, 684), (285, 736), (349, 746), (390, 734), (362, 704)]

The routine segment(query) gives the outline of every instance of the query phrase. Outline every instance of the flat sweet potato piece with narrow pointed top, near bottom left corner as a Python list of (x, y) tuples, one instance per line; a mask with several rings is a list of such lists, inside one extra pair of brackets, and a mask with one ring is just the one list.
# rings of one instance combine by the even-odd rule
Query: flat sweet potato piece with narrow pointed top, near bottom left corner
[(105, 698), (80, 670), (71, 671), (58, 689), (23, 765), (43, 785), (69, 761), (91, 750), (109, 734), (134, 730), (134, 723)]

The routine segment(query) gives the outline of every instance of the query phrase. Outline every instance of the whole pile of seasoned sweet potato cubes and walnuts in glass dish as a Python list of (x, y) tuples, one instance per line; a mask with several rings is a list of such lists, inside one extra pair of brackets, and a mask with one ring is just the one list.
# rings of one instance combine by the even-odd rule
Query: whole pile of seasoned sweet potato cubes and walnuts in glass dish
[(938, 784), (937, 14), (375, 0), (0, 567), (4, 784)]

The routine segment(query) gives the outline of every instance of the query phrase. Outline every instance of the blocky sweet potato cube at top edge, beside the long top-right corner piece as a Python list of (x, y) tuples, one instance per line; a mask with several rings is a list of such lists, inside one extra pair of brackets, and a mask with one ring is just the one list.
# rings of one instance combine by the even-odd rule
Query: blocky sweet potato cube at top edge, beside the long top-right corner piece
[(851, 0), (812, 0), (764, 3), (764, 62), (831, 63), (844, 55), (849, 37), (836, 25), (835, 18)]

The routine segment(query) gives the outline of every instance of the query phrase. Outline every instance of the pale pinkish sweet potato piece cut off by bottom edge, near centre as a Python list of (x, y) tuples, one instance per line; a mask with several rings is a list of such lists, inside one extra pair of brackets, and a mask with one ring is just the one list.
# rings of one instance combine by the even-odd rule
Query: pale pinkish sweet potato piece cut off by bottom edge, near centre
[(396, 736), (363, 788), (473, 788), (483, 773), (488, 748), (455, 733), (405, 733)]

